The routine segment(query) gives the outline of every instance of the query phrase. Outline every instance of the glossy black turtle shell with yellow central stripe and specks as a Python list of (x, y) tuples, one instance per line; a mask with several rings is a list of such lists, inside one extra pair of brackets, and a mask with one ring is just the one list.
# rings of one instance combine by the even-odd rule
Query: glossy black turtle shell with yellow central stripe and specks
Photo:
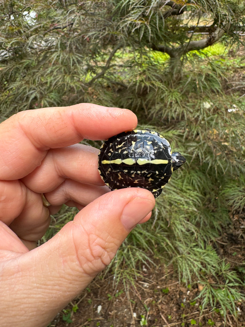
[(155, 198), (172, 175), (169, 142), (150, 130), (132, 130), (106, 140), (100, 148), (99, 172), (111, 190), (142, 187)]

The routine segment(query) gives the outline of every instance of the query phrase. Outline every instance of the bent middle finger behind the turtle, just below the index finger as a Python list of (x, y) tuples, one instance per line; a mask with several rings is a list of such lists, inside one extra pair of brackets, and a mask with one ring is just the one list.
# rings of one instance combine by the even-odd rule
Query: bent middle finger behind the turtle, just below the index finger
[(65, 179), (90, 185), (105, 185), (98, 171), (98, 153), (98, 149), (83, 144), (50, 149), (41, 165), (22, 181), (37, 193), (51, 192)]

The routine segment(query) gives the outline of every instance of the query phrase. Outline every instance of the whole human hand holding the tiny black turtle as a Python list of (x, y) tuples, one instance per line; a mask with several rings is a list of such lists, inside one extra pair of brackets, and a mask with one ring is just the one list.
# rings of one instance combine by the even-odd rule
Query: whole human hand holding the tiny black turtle
[[(109, 192), (98, 150), (78, 144), (136, 125), (129, 110), (88, 103), (19, 112), (0, 124), (1, 326), (46, 326), (150, 218), (154, 196), (140, 188)], [(80, 212), (36, 248), (63, 203)]]

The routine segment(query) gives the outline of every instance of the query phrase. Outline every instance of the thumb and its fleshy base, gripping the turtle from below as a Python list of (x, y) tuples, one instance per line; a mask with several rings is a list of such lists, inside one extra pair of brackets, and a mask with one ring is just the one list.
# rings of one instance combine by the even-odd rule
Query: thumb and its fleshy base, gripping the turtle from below
[[(4, 275), (9, 278), (14, 272), (14, 283), (8, 285), (5, 306), (8, 308), (13, 301), (21, 305), (16, 321), (10, 323), (6, 317), (8, 326), (47, 325), (110, 263), (130, 230), (150, 218), (154, 205), (153, 195), (145, 189), (106, 193), (81, 210), (47, 243), (10, 261)], [(8, 312), (4, 309), (1, 312)]]

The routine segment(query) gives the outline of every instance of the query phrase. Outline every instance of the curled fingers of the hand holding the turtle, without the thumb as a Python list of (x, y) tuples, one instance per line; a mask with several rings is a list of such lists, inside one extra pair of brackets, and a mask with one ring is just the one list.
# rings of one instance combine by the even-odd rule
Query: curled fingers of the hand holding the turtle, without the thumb
[[(2, 122), (1, 221), (11, 225), (28, 248), (30, 243), (35, 247), (61, 200), (82, 208), (107, 192), (97, 170), (98, 150), (73, 144), (105, 139), (136, 125), (130, 110), (89, 103), (27, 110)], [(43, 193), (51, 206), (43, 205)]]

